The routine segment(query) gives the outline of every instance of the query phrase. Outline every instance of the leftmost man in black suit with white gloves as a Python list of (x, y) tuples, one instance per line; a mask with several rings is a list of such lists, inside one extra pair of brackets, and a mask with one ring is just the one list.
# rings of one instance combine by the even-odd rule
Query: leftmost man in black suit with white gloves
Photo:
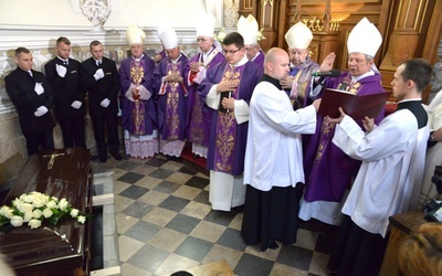
[(28, 156), (42, 149), (53, 149), (51, 115), (54, 93), (41, 72), (32, 70), (32, 53), (25, 47), (15, 50), (17, 68), (4, 77), (9, 98), (19, 113), (19, 121), (27, 139)]

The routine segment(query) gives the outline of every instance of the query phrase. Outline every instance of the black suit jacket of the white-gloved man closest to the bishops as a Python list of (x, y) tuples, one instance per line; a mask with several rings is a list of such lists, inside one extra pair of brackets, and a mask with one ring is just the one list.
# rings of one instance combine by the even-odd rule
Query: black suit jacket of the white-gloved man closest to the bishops
[[(98, 68), (103, 68), (104, 77), (95, 81), (94, 74)], [(113, 60), (103, 57), (103, 63), (99, 67), (93, 57), (84, 61), (81, 70), (81, 82), (82, 87), (87, 89), (90, 115), (92, 117), (118, 113), (117, 95), (119, 93), (119, 78), (117, 66)], [(105, 98), (110, 100), (107, 108), (99, 105)]]

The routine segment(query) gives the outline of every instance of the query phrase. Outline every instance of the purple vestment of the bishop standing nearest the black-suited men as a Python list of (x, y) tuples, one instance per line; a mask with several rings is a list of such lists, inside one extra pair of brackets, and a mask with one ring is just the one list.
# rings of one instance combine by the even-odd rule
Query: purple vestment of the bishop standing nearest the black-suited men
[[(154, 94), (152, 76), (155, 62), (144, 55), (139, 61), (139, 68), (136, 70), (133, 57), (125, 59), (118, 70), (119, 83), (122, 85), (122, 126), (131, 135), (151, 135), (157, 129), (157, 112), (155, 108), (154, 96), (149, 99), (139, 99), (138, 103), (130, 102), (125, 96), (130, 83), (144, 86)], [(141, 75), (139, 75), (141, 73)], [(134, 82), (134, 77), (137, 79)]]

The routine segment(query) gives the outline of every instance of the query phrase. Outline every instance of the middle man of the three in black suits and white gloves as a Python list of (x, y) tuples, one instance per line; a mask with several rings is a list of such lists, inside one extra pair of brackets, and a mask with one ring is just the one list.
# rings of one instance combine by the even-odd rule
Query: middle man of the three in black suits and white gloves
[(70, 59), (71, 41), (60, 36), (56, 56), (44, 65), (46, 78), (55, 94), (55, 116), (63, 132), (65, 148), (86, 148), (84, 116), (85, 89), (81, 87), (78, 61)]

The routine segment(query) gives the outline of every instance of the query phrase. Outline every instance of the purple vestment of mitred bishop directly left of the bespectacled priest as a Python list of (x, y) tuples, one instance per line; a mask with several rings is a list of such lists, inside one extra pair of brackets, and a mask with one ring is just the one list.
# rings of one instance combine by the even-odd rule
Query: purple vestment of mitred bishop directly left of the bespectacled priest
[[(213, 47), (214, 50), (215, 47)], [(212, 50), (212, 51), (213, 51)], [(223, 62), (224, 55), (221, 52), (214, 54), (211, 61), (202, 61), (202, 53), (196, 54), (190, 61), (204, 63), (206, 68), (210, 70), (214, 65)], [(186, 68), (187, 74), (190, 72), (189, 65)], [(186, 77), (187, 78), (187, 77)], [(187, 135), (190, 142), (196, 142), (201, 146), (209, 146), (210, 125), (212, 120), (213, 109), (208, 107), (203, 99), (198, 95), (198, 84), (193, 83), (189, 86), (188, 109), (187, 109)]]

